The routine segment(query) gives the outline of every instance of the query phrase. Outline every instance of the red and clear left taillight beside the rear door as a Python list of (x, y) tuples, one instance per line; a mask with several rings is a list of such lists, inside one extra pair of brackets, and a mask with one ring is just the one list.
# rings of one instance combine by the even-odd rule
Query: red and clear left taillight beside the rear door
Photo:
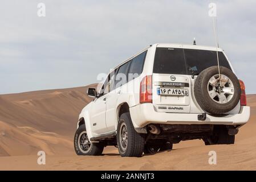
[(140, 82), (140, 104), (152, 103), (152, 75), (145, 76)]

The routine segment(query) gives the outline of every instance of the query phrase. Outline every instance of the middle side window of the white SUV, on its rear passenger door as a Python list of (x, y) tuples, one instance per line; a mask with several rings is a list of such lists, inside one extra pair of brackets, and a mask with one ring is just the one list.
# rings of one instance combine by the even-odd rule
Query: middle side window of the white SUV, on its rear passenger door
[(115, 81), (115, 88), (118, 88), (121, 85), (124, 85), (127, 83), (128, 80), (128, 69), (129, 64), (131, 61), (128, 61), (127, 63), (121, 65), (119, 69), (116, 72), (116, 81)]

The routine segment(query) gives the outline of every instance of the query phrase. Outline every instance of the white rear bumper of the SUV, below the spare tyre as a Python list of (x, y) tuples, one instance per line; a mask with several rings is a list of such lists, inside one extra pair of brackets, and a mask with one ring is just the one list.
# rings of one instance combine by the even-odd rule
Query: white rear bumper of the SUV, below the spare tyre
[(198, 121), (198, 114), (201, 113), (160, 113), (155, 111), (152, 104), (140, 104), (130, 107), (130, 113), (135, 127), (144, 127), (149, 123), (244, 125), (250, 118), (250, 107), (241, 106), (239, 114), (228, 114), (222, 117), (206, 114), (205, 121)]

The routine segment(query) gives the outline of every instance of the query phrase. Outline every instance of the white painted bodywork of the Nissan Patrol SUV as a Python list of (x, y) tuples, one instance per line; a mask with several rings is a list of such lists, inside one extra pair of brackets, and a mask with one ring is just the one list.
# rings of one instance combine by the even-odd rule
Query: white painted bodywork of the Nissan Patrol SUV
[[(80, 113), (79, 119), (84, 118), (87, 135), (90, 140), (92, 137), (97, 137), (99, 135), (111, 133), (117, 130), (119, 108), (124, 103), (127, 103), (129, 106), (133, 126), (135, 128), (144, 127), (149, 123), (244, 125), (249, 120), (250, 107), (240, 106), (240, 103), (238, 103), (238, 105), (233, 110), (229, 111), (229, 113), (226, 113), (226, 115), (223, 117), (214, 117), (213, 115), (207, 114), (205, 121), (198, 121), (198, 114), (202, 114), (204, 111), (197, 104), (196, 98), (192, 92), (196, 76), (194, 79), (192, 79), (192, 77), (189, 75), (174, 75), (176, 76), (177, 82), (186, 82), (189, 84), (189, 97), (184, 96), (160, 98), (157, 96), (156, 92), (154, 91), (157, 88), (155, 82), (169, 81), (169, 75), (152, 73), (155, 51), (157, 47), (204, 49), (209, 51), (216, 51), (216, 47), (208, 46), (194, 46), (185, 44), (153, 44), (152, 46), (137, 53), (135, 56), (147, 50), (143, 73), (141, 73), (141, 75), (134, 80), (129, 81), (127, 84), (120, 86), (116, 90), (112, 90), (112, 92), (109, 92), (100, 98), (95, 98), (95, 100), (84, 107)], [(223, 50), (220, 48), (218, 48), (218, 51), (223, 52)], [(130, 57), (127, 61), (131, 60), (135, 56)], [(124, 63), (127, 61), (124, 61)], [(227, 59), (227, 61), (230, 64), (229, 59)], [(231, 64), (230, 67), (234, 72)], [(153, 75), (152, 104), (140, 104), (140, 82), (146, 75)], [(104, 98), (106, 98), (105, 101)], [(169, 111), (168, 113), (157, 109), (157, 106), (168, 105), (168, 103), (172, 103), (172, 106), (182, 106), (184, 109), (182, 111), (173, 110)]]

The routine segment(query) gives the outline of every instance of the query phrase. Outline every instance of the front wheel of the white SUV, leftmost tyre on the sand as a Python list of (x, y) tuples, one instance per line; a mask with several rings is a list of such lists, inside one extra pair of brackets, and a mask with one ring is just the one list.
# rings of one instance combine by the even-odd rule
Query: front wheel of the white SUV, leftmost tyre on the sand
[(86, 126), (79, 126), (74, 138), (74, 147), (77, 155), (101, 155), (104, 143), (91, 143), (87, 137)]

